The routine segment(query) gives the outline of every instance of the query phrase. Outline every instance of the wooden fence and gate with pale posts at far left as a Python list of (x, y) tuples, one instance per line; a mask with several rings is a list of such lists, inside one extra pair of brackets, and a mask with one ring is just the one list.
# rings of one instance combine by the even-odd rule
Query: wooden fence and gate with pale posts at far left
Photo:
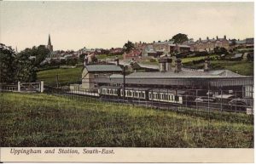
[(13, 84), (1, 84), (0, 91), (6, 92), (44, 92), (44, 82), (40, 83), (13, 83)]

